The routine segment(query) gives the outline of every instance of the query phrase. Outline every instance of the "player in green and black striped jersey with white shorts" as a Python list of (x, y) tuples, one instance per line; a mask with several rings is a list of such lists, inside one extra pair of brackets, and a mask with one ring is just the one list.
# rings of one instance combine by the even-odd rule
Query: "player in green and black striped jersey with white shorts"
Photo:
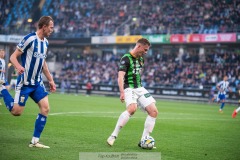
[[(126, 103), (126, 110), (119, 116), (116, 127), (107, 143), (112, 146), (116, 140), (121, 128), (126, 125), (130, 117), (136, 112), (139, 107), (148, 114), (142, 138), (149, 136), (153, 131), (155, 121), (158, 115), (155, 99), (142, 86), (140, 73), (144, 65), (143, 56), (147, 54), (151, 44), (141, 38), (137, 41), (133, 50), (126, 53), (120, 61), (118, 71), (118, 86), (120, 90), (120, 100)], [(139, 147), (140, 143), (138, 144)]]

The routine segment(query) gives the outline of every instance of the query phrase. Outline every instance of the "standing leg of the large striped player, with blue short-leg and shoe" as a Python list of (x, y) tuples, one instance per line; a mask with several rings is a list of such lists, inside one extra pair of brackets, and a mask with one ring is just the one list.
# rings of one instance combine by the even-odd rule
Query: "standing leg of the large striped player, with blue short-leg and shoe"
[(47, 116), (48, 116), (48, 113), (50, 110), (47, 95), (48, 95), (48, 93), (45, 90), (43, 85), (37, 86), (35, 91), (31, 95), (31, 98), (38, 104), (40, 111), (39, 111), (36, 121), (35, 121), (33, 137), (29, 144), (29, 147), (50, 148), (49, 146), (45, 146), (45, 145), (39, 143), (39, 139), (45, 128), (45, 125), (47, 122)]

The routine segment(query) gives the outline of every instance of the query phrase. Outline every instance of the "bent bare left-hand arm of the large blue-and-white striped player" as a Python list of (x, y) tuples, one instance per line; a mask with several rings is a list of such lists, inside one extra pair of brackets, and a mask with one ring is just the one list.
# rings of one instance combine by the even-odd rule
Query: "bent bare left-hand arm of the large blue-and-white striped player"
[(23, 66), (18, 62), (18, 57), (22, 54), (22, 51), (18, 48), (13, 52), (13, 54), (10, 56), (10, 61), (12, 62), (13, 66), (16, 68), (18, 74), (23, 74), (24, 68)]

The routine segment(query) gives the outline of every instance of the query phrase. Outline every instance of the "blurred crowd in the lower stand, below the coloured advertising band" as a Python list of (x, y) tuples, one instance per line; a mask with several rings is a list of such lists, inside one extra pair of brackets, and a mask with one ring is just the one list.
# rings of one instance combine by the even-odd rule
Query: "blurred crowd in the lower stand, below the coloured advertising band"
[[(240, 54), (217, 49), (213, 52), (163, 52), (147, 56), (142, 84), (148, 87), (211, 89), (227, 75), (234, 91), (240, 85)], [(120, 54), (106, 53), (65, 59), (58, 77), (80, 83), (90, 81), (93, 84), (117, 85), (120, 58)]]

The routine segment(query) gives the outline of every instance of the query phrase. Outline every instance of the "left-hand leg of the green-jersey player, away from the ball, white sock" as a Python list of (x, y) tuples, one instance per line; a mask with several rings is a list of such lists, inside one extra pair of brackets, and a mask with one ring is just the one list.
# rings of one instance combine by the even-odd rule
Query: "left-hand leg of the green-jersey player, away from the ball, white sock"
[(134, 92), (132, 91), (132, 89), (130, 89), (130, 88), (125, 89), (124, 94), (125, 94), (125, 103), (126, 103), (127, 109), (119, 116), (114, 131), (107, 139), (107, 143), (110, 146), (113, 145), (120, 130), (127, 124), (131, 115), (133, 115), (137, 110), (137, 100), (136, 100), (137, 97), (134, 94)]

